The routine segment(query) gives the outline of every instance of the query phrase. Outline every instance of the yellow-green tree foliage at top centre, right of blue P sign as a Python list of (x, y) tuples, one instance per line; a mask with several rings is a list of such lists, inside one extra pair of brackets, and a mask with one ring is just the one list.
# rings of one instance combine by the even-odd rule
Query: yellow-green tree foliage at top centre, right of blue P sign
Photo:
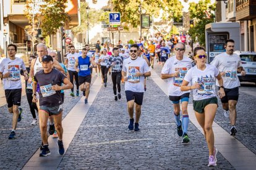
[[(135, 28), (140, 24), (140, 2), (140, 0), (112, 0), (114, 11), (121, 13), (122, 25), (130, 24)], [(179, 0), (144, 0), (142, 9), (154, 17), (159, 17), (160, 10), (163, 10), (162, 20), (182, 17), (182, 5)]]

